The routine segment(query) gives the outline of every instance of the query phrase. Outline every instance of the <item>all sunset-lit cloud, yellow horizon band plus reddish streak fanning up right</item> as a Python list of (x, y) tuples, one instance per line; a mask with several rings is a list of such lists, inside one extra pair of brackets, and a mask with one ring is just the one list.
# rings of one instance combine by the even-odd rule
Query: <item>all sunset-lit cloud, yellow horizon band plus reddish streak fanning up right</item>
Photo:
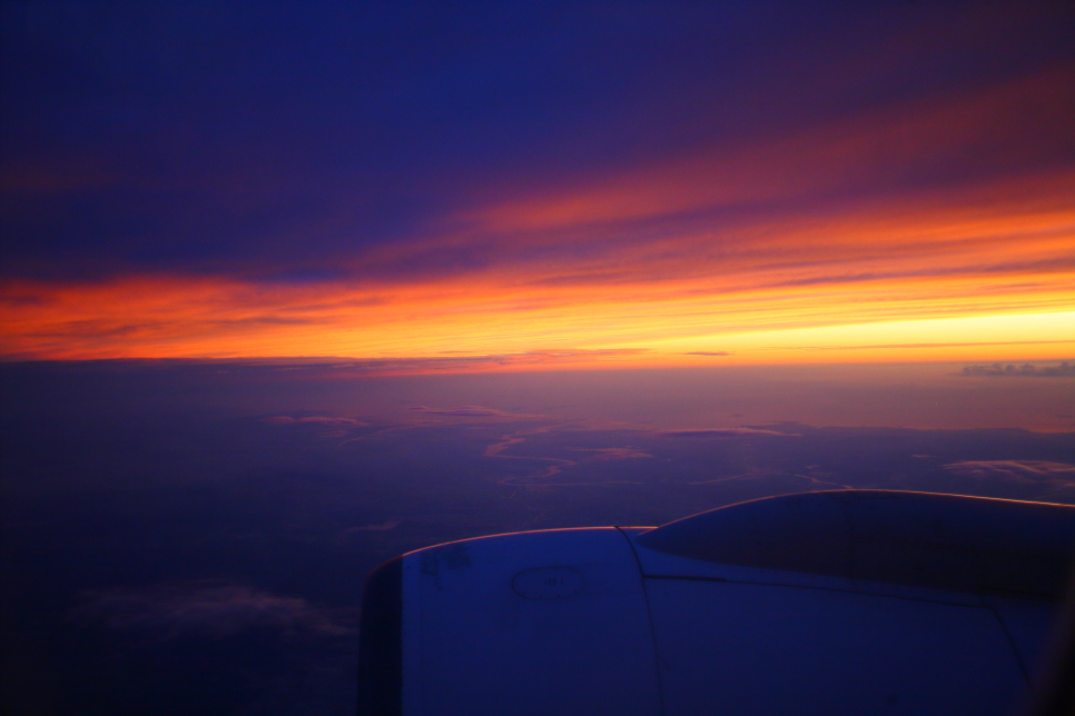
[[(1054, 155), (1072, 143), (1072, 118), (1064, 67), (446, 216), (424, 238), (354, 253), (336, 281), (10, 280), (0, 352), (349, 356), (400, 370), (448, 354), (485, 357), (465, 369), (741, 362), (806, 358), (786, 341), (781, 358), (720, 337), (1063, 317), (1075, 310), (1075, 170)], [(976, 360), (1069, 357), (1075, 326), (1049, 326), (1055, 336), (982, 328), (958, 341), (870, 329), (809, 359), (969, 355), (956, 344)], [(1002, 345), (1023, 354), (990, 348)]]

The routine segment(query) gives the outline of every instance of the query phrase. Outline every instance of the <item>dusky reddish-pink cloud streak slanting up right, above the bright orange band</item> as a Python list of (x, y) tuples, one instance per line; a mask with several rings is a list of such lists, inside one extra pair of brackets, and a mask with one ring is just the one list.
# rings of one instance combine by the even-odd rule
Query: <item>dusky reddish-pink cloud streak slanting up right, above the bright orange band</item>
[(1068, 66), (966, 97), (903, 106), (786, 137), (696, 147), (677, 160), (509, 201), (474, 219), (496, 230), (540, 230), (797, 197), (831, 201), (828, 192), (861, 190), (864, 183), (891, 188), (908, 175), (955, 172), (961, 178), (975, 168), (992, 173), (1009, 165), (1047, 162), (1058, 147), (1071, 146), (1073, 117), (1075, 67)]

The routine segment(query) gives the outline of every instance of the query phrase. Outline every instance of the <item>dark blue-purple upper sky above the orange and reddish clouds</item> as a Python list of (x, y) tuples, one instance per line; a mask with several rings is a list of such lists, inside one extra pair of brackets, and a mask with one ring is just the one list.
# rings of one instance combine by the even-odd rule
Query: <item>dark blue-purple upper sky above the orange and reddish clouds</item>
[[(362, 247), (407, 241), (470, 208), (974, 92), (1075, 57), (1062, 3), (4, 2), (2, 12), (8, 277), (328, 278)], [(1027, 171), (1071, 161), (1072, 145), (1063, 157), (1009, 149), (875, 177), (870, 190)], [(481, 250), (453, 260), (482, 261)]]

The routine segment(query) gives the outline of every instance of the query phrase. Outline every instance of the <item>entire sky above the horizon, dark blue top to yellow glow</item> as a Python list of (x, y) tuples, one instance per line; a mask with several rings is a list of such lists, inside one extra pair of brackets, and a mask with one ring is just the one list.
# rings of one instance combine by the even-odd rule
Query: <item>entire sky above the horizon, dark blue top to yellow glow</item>
[(0, 13), (8, 361), (1075, 356), (1069, 3)]

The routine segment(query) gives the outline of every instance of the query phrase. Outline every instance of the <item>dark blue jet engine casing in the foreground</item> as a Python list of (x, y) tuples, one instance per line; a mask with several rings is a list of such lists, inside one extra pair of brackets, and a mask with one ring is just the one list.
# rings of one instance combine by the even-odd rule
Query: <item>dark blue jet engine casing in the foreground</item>
[(359, 713), (1010, 716), (1073, 546), (1072, 506), (887, 490), (438, 545), (367, 579)]

